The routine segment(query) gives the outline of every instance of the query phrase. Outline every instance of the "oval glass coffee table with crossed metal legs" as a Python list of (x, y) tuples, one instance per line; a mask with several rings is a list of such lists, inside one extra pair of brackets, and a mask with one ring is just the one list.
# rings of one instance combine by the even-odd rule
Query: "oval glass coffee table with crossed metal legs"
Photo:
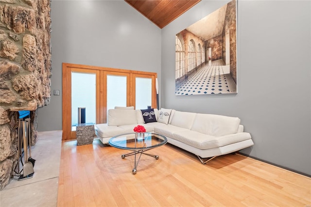
[[(167, 138), (163, 135), (153, 133), (153, 132), (145, 132), (143, 139), (135, 138), (135, 133), (122, 134), (109, 139), (109, 145), (112, 147), (116, 147), (123, 150), (130, 150), (131, 153), (121, 155), (122, 159), (126, 156), (134, 155), (134, 169), (132, 170), (133, 174), (137, 173), (137, 166), (142, 154), (155, 157), (158, 159), (158, 155), (151, 155), (145, 153), (148, 150), (154, 149), (156, 147), (160, 147), (167, 143)], [(136, 155), (139, 154), (137, 159)]]

